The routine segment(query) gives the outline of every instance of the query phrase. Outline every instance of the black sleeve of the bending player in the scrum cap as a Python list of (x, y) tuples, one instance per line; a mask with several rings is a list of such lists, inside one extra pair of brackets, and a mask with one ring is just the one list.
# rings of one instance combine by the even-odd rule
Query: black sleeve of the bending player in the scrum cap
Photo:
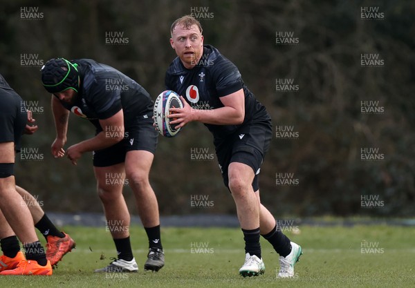
[(120, 90), (107, 88), (103, 79), (94, 82), (88, 98), (98, 119), (108, 119), (122, 109)]

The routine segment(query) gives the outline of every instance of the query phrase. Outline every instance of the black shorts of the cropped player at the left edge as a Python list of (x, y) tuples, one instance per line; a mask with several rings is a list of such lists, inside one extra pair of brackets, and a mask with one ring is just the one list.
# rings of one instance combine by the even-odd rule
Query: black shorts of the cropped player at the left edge
[(19, 152), (27, 120), (23, 99), (14, 90), (0, 88), (0, 142), (15, 142)]

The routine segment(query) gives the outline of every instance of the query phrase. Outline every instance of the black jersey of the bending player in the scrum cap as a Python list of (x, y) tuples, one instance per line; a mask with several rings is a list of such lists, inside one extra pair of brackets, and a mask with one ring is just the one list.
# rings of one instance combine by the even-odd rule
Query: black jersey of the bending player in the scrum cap
[[(151, 117), (153, 101), (136, 81), (120, 71), (91, 59), (76, 59), (80, 89), (75, 103), (62, 105), (100, 128), (99, 119), (107, 119), (123, 110), (124, 123), (135, 117)], [(151, 112), (151, 113), (150, 113)]]

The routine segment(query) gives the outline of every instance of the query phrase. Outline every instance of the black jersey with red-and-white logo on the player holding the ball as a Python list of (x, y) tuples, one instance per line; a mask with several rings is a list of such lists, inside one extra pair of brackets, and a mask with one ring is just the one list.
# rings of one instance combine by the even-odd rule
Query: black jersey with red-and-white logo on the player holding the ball
[(249, 127), (253, 121), (269, 121), (265, 107), (243, 84), (237, 66), (221, 55), (219, 50), (210, 45), (203, 46), (203, 55), (199, 63), (192, 69), (183, 66), (176, 57), (170, 64), (165, 75), (165, 86), (178, 95), (182, 95), (188, 104), (195, 109), (210, 110), (223, 107), (220, 97), (243, 89), (245, 94), (245, 119), (240, 125), (205, 124), (214, 135), (215, 140), (224, 137), (243, 127)]

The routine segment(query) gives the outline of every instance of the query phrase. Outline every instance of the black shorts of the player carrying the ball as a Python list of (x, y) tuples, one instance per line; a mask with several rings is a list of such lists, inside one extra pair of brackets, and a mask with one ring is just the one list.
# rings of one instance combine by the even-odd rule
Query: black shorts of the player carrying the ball
[(252, 188), (254, 191), (259, 189), (258, 175), (272, 135), (273, 128), (270, 121), (254, 122), (249, 126), (242, 126), (223, 141), (215, 141), (216, 156), (225, 186), (229, 188), (229, 164), (239, 162), (252, 168), (255, 173)]

